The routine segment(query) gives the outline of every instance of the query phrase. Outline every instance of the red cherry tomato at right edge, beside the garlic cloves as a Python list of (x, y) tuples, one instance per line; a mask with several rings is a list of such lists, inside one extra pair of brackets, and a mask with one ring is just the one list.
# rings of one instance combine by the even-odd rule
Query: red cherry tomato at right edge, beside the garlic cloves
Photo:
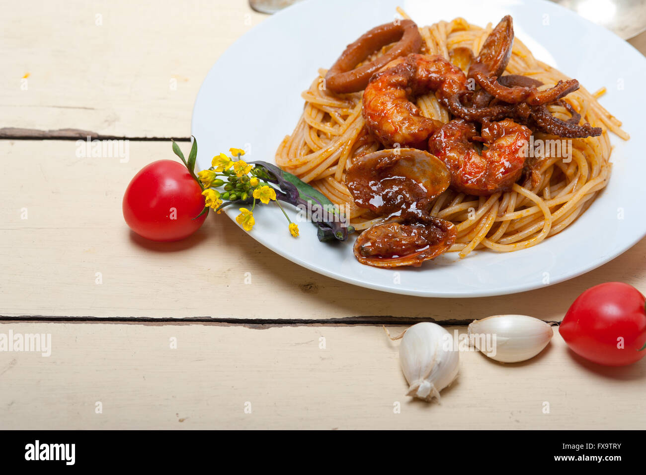
[(559, 333), (576, 354), (606, 366), (635, 363), (644, 355), (646, 299), (633, 286), (607, 282), (589, 288), (565, 314)]

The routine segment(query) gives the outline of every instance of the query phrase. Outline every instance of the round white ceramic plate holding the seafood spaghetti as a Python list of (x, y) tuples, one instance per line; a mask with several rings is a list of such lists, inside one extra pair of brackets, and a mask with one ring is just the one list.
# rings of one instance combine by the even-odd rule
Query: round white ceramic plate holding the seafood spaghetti
[[(276, 206), (256, 207), (251, 236), (308, 269), (358, 286), (427, 297), (504, 295), (570, 279), (620, 255), (646, 235), (643, 211), (643, 86), (646, 58), (608, 30), (547, 1), (307, 0), (267, 18), (215, 63), (197, 96), (193, 134), (198, 165), (229, 147), (245, 147), (245, 160), (274, 162), (278, 144), (302, 112), (300, 92), (319, 67), (329, 67), (348, 43), (391, 21), (402, 8), (418, 25), (461, 16), (485, 26), (514, 17), (516, 37), (536, 58), (577, 78), (624, 122), (632, 140), (612, 136), (612, 178), (592, 206), (565, 231), (512, 253), (475, 251), (426, 262), (421, 268), (378, 269), (359, 264), (348, 242), (318, 242), (316, 229), (299, 223), (292, 238)], [(215, 25), (217, 26), (217, 25)], [(227, 213), (234, 218), (238, 211)], [(292, 218), (297, 213), (291, 210)], [(623, 217), (623, 219), (621, 219)], [(244, 232), (244, 231), (240, 231)], [(214, 251), (215, 252), (215, 251)], [(214, 259), (217, 259), (214, 255)], [(359, 290), (357, 290), (359, 291)]]

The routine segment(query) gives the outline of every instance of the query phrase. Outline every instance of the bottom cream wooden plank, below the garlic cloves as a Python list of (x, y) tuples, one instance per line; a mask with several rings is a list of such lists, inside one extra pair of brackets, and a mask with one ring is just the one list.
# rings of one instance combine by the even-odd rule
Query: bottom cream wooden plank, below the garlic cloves
[(52, 354), (0, 353), (6, 429), (598, 430), (646, 423), (645, 361), (591, 366), (557, 332), (527, 363), (461, 352), (456, 383), (441, 404), (427, 404), (404, 396), (399, 342), (378, 326), (0, 324), (0, 333), (10, 329), (51, 333)]

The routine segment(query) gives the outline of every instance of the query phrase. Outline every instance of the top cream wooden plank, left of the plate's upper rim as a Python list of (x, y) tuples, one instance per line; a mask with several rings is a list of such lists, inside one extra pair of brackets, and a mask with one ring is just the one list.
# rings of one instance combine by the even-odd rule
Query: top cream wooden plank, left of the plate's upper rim
[(207, 72), (265, 17), (243, 0), (16, 3), (0, 16), (0, 127), (189, 137)]

